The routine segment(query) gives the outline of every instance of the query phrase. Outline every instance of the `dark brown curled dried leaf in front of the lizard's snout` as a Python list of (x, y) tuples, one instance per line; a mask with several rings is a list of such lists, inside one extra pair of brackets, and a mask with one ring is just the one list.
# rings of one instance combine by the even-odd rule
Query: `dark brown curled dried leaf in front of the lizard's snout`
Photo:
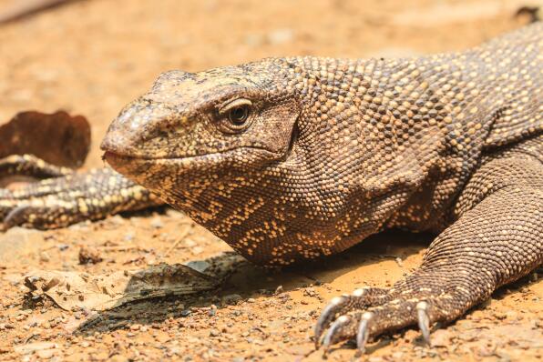
[(90, 148), (90, 125), (84, 116), (64, 111), (21, 112), (0, 126), (0, 158), (30, 154), (56, 166), (83, 165)]

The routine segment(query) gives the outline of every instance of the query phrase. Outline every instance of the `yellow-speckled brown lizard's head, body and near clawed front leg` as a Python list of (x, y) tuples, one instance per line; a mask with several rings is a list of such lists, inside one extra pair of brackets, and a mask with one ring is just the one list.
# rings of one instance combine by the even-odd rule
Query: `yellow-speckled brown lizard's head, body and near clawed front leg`
[[(354, 338), (364, 349), (417, 323), (428, 339), (431, 324), (543, 261), (542, 35), (535, 24), (461, 54), (168, 72), (102, 148), (120, 174), (261, 265), (327, 256), (388, 227), (437, 233), (413, 275), (334, 298), (315, 327), (326, 348)], [(124, 180), (108, 173), (108, 185)]]

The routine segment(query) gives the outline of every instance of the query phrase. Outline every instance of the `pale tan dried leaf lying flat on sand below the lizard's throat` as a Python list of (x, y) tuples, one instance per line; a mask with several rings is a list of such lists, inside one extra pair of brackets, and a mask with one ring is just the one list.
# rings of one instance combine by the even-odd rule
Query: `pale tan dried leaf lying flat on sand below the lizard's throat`
[[(224, 254), (202, 261), (206, 274), (190, 266), (159, 264), (143, 270), (118, 271), (92, 276), (88, 273), (38, 270), (25, 277), (30, 293), (50, 297), (66, 310), (103, 311), (141, 299), (182, 296), (219, 287), (244, 261)], [(196, 267), (201, 265), (196, 265)]]

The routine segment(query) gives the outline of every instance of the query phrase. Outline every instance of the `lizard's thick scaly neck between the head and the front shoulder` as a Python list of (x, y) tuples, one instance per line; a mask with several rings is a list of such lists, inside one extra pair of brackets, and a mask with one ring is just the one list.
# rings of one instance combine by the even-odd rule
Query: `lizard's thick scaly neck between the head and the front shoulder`
[(355, 233), (361, 238), (384, 226), (425, 230), (446, 222), (497, 111), (486, 96), (491, 85), (472, 80), (486, 71), (472, 53), (287, 59), (303, 105), (290, 175), (310, 170), (305, 177), (326, 189), (319, 202), (341, 209), (311, 206), (317, 214), (342, 219), (360, 200), (355, 212), (371, 225)]

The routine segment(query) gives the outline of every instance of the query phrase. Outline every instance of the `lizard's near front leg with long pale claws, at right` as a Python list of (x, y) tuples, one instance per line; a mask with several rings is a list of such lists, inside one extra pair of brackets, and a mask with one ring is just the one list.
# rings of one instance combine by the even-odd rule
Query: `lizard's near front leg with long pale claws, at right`
[(543, 166), (537, 158), (487, 162), (456, 212), (459, 218), (435, 238), (413, 275), (378, 296), (362, 289), (335, 298), (315, 327), (317, 346), (327, 327), (325, 349), (355, 339), (364, 351), (370, 337), (416, 324), (429, 343), (432, 324), (461, 317), (543, 262)]

